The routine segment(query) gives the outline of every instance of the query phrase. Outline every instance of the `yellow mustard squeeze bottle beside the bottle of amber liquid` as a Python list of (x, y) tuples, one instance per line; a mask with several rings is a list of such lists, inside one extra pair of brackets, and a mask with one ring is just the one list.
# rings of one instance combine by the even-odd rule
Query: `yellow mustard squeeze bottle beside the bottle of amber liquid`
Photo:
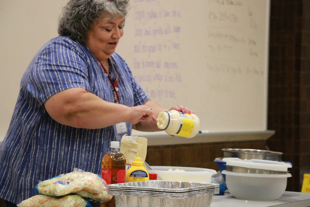
[(135, 158), (131, 167), (126, 172), (125, 182), (149, 180), (148, 171), (144, 168), (144, 162), (139, 157)]

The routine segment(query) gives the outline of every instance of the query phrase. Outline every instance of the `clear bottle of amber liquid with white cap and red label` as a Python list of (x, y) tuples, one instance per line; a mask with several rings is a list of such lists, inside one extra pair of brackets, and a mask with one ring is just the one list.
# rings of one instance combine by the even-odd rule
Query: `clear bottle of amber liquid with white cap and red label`
[[(102, 158), (101, 178), (109, 184), (125, 182), (126, 158), (119, 151), (119, 142), (111, 142), (111, 150)], [(114, 197), (101, 207), (115, 207)]]

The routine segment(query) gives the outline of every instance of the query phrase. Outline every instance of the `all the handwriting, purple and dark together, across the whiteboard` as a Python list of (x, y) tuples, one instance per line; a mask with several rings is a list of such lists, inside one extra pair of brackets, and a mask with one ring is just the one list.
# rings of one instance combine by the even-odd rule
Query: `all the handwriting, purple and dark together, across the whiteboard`
[[(258, 10), (249, 2), (202, 1), (203, 14), (197, 20), (197, 16), (192, 19), (194, 14), (189, 13), (201, 12), (198, 8), (184, 8), (169, 0), (133, 0), (130, 32), (134, 38), (129, 50), (135, 79), (157, 100), (178, 99), (178, 88), (188, 84), (183, 76), (188, 78), (189, 74), (201, 80), (203, 76), (214, 76), (216, 81), (203, 81), (202, 87), (217, 93), (238, 91), (236, 83), (242, 79), (263, 81), (266, 70), (261, 62), (265, 54), (258, 35), (263, 25), (257, 16)], [(182, 60), (187, 59), (184, 53), (189, 56), (196, 53), (187, 42), (203, 48), (198, 54), (200, 59), (195, 60), (203, 62), (202, 66), (192, 67), (197, 64), (190, 58), (189, 64)]]

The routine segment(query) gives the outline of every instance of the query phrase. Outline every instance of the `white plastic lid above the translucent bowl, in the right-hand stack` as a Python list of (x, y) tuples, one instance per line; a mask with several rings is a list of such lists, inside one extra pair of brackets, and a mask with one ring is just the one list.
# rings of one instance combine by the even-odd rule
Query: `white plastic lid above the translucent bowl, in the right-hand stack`
[(242, 160), (235, 157), (226, 157), (223, 158), (223, 161), (225, 161), (227, 165), (231, 166), (266, 169), (266, 170), (287, 171), (287, 168), (292, 167), (292, 165), (288, 163), (272, 160), (258, 160), (258, 159)]

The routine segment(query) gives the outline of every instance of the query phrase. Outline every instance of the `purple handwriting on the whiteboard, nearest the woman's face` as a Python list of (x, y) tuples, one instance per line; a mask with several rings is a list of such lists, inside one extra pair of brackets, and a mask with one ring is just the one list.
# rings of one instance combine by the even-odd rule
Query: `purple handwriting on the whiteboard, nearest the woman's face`
[[(179, 34), (181, 17), (176, 8), (161, 7), (159, 0), (135, 0), (131, 20), (134, 28), (132, 57), (134, 78), (151, 98), (177, 99), (177, 85), (182, 84), (179, 60), (171, 58), (182, 49)], [(152, 7), (148, 6), (152, 5)], [(155, 84), (155, 87), (154, 87)], [(151, 86), (152, 85), (152, 86)]]

